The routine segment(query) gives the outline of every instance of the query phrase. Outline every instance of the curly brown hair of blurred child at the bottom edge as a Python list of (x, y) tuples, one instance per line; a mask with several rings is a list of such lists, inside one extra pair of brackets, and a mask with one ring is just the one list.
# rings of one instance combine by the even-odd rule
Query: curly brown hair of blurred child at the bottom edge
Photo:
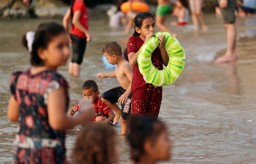
[(112, 164), (116, 131), (105, 124), (90, 124), (79, 132), (73, 149), (74, 164)]

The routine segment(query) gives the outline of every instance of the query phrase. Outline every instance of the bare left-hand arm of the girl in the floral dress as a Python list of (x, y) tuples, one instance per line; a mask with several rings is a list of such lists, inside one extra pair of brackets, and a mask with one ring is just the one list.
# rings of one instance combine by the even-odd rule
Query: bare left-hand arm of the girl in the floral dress
[(10, 98), (7, 115), (10, 121), (19, 121), (19, 104), (13, 95)]

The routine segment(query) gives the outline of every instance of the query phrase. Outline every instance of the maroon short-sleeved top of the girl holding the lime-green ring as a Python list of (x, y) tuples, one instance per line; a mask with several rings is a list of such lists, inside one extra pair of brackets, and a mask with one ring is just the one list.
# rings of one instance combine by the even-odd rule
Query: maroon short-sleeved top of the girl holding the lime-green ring
[[(138, 52), (140, 47), (144, 41), (140, 38), (140, 36), (131, 36), (127, 43), (127, 55), (131, 52)], [(160, 49), (157, 47), (155, 51), (153, 51), (151, 60), (153, 65), (159, 69), (163, 69), (163, 61), (161, 57)], [(143, 79), (143, 75), (139, 71), (139, 66), (136, 64), (133, 66), (133, 76), (132, 76), (132, 99), (141, 99), (141, 98), (148, 98), (148, 95), (145, 95), (143, 90), (136, 91), (138, 89), (145, 89), (148, 90), (152, 88), (152, 84), (148, 84)], [(162, 87), (159, 87), (160, 92), (154, 95), (154, 100), (159, 101), (162, 100)]]

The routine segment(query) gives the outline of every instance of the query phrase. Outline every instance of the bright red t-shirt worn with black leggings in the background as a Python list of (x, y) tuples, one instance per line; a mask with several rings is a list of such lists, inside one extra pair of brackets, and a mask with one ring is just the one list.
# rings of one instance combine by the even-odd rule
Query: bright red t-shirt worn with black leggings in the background
[[(79, 22), (81, 23), (81, 25), (86, 30), (88, 30), (88, 27), (89, 27), (89, 16), (88, 16), (87, 7), (85, 6), (84, 2), (79, 1), (79, 0), (76, 0), (74, 2), (73, 13), (75, 13), (76, 11), (80, 11), (81, 12), (81, 16), (79, 18)], [(81, 30), (79, 30), (75, 25), (70, 27), (69, 33), (73, 34), (73, 35), (76, 35), (76, 36), (78, 36), (80, 38), (86, 38), (85, 34)]]

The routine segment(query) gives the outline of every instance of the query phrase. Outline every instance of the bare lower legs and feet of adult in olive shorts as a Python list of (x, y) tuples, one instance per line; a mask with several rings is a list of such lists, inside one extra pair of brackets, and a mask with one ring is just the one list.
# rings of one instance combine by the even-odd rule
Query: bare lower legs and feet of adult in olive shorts
[(237, 59), (236, 56), (236, 26), (234, 23), (226, 23), (225, 27), (227, 29), (227, 41), (228, 47), (226, 53), (217, 58), (215, 63), (225, 63), (229, 61), (234, 61)]

